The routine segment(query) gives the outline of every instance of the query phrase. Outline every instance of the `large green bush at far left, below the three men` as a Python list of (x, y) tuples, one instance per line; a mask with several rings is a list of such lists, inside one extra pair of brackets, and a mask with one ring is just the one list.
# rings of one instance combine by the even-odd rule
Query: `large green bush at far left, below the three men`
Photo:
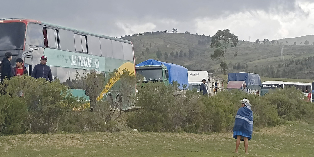
[[(5, 80), (0, 87), (1, 93), (5, 93), (1, 97), (11, 99), (9, 108), (4, 111), (5, 115), (18, 115), (19, 119), (16, 121), (19, 122), (14, 124), (23, 123), (28, 133), (58, 131), (58, 125), (64, 121), (64, 117), (73, 109), (77, 100), (67, 86), (58, 81), (47, 82), (44, 78), (35, 79), (26, 75), (13, 77)], [(19, 97), (21, 91), (23, 96)], [(6, 125), (8, 124), (10, 123), (7, 122)], [(7, 128), (11, 127), (7, 126)], [(24, 128), (5, 133), (23, 133), (23, 130)]]

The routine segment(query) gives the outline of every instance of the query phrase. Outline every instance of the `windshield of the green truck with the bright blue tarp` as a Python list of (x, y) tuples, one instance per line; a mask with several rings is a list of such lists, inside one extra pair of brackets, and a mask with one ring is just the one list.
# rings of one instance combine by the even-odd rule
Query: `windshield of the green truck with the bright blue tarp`
[(144, 77), (144, 81), (162, 81), (162, 69), (137, 70), (136, 73)]

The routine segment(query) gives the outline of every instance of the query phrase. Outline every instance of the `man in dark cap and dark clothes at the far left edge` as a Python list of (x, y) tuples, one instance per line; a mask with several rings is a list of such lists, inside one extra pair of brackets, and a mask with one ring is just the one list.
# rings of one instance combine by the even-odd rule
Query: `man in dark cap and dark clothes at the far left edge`
[(11, 52), (6, 52), (5, 53), (5, 58), (2, 60), (1, 64), (1, 82), (3, 81), (4, 78), (10, 79), (11, 77), (14, 76), (14, 70), (13, 67), (11, 66), (10, 61), (12, 60), (12, 53)]

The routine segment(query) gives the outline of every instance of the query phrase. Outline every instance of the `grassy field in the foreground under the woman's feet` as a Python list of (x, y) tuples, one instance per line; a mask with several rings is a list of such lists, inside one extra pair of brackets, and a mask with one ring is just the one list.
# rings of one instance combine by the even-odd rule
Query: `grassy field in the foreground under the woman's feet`
[(85, 133), (29, 134), (0, 137), (0, 156), (255, 156), (288, 157), (314, 154), (314, 126), (286, 122), (254, 131), (249, 153), (241, 142), (233, 153), (232, 133)]

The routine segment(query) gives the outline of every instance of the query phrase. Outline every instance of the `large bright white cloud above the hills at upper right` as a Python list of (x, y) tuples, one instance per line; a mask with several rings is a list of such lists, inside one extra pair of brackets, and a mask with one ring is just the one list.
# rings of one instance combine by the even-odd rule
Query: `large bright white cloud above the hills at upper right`
[(314, 3), (297, 1), (299, 9), (288, 13), (268, 13), (263, 10), (230, 14), (227, 17), (196, 19), (197, 32), (214, 35), (217, 30), (229, 29), (240, 40), (268, 38), (276, 40), (314, 34)]

